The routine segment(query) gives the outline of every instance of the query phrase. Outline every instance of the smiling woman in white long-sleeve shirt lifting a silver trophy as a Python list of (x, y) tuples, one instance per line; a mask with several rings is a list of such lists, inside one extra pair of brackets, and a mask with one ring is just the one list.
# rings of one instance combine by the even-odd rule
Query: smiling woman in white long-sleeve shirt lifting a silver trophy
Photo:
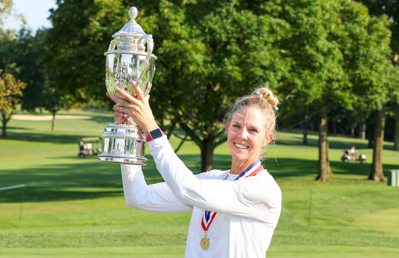
[(126, 204), (151, 212), (191, 211), (187, 258), (265, 257), (281, 211), (280, 188), (260, 162), (273, 140), (277, 97), (265, 86), (238, 99), (225, 118), (231, 169), (193, 175), (159, 134), (149, 96), (133, 87), (135, 97), (119, 88), (124, 99), (107, 93), (122, 105), (114, 106), (114, 120), (124, 122), (128, 114), (156, 138), (148, 146), (165, 182), (147, 185), (141, 166), (121, 165)]

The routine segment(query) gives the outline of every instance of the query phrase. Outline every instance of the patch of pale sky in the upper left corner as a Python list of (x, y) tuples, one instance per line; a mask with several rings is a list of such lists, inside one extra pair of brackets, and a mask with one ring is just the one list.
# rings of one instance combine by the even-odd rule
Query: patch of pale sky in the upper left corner
[[(49, 10), (56, 9), (57, 5), (55, 0), (12, 0), (14, 6), (13, 11), (16, 14), (23, 14), (27, 27), (32, 29), (33, 33), (41, 28), (50, 28), (51, 22), (47, 19), (50, 16)], [(3, 29), (16, 29), (20, 30), (22, 22), (14, 19), (6, 19), (4, 21)]]

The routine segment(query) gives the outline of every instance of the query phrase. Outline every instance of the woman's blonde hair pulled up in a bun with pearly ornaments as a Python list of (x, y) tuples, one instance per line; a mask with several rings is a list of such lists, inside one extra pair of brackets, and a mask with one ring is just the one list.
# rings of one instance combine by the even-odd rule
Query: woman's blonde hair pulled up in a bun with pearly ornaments
[[(234, 105), (232, 105), (226, 112), (223, 122), (230, 124), (231, 119), (235, 112), (242, 107), (255, 107), (263, 114), (265, 120), (266, 135), (273, 135), (273, 141), (276, 133), (276, 118), (277, 118), (277, 105), (279, 104), (279, 98), (273, 94), (267, 83), (259, 85), (255, 88), (252, 94), (245, 95), (236, 99)], [(259, 151), (259, 156), (264, 158), (266, 155), (267, 145), (262, 147)]]

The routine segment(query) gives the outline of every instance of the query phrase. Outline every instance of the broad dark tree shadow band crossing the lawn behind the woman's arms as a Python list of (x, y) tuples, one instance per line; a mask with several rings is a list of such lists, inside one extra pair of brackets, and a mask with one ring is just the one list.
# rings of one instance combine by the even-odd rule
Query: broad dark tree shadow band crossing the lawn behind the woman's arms
[[(146, 154), (149, 156), (149, 154)], [(179, 155), (180, 159), (194, 173), (201, 173), (200, 155)], [(0, 187), (27, 184), (42, 187), (27, 187), (24, 202), (44, 202), (76, 199), (95, 199), (107, 196), (122, 196), (122, 179), (120, 165), (97, 162), (93, 160), (84, 163), (63, 163), (45, 165), (40, 168), (2, 170), (0, 171)], [(361, 175), (366, 179), (371, 164), (343, 163), (330, 161), (335, 174)], [(214, 169), (227, 170), (231, 166), (230, 155), (215, 155)], [(302, 177), (314, 175), (318, 171), (317, 160), (280, 158), (278, 164), (274, 160), (263, 161), (265, 167), (274, 178)], [(142, 167), (147, 184), (162, 182), (163, 179), (156, 170), (151, 157), (147, 166)], [(384, 165), (384, 172), (397, 169), (395, 165)], [(50, 188), (54, 186), (53, 188)], [(63, 188), (63, 186), (67, 186)], [(96, 189), (98, 188), (98, 189)], [(108, 188), (108, 189), (107, 189)], [(0, 191), (0, 202), (20, 202), (22, 188)]]

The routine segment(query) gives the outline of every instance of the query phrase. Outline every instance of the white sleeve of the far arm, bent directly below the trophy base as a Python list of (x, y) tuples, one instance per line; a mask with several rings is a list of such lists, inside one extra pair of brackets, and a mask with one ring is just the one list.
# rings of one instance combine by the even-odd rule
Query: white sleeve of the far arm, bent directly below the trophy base
[(162, 182), (147, 185), (140, 165), (120, 165), (126, 205), (158, 213), (188, 212), (193, 206), (178, 199)]

